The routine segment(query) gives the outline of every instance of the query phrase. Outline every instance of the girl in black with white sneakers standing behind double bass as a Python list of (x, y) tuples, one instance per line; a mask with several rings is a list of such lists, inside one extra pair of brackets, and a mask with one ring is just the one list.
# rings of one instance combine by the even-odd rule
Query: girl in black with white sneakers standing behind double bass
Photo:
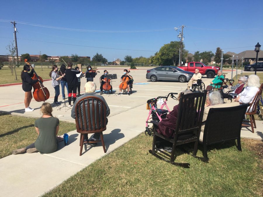
[(30, 71), (30, 66), (25, 64), (24, 68), (21, 72), (21, 79), (22, 79), (22, 89), (25, 91), (25, 111), (34, 111), (34, 109), (29, 107), (29, 104), (33, 98), (32, 96), (32, 85), (37, 83), (39, 81), (39, 79), (33, 80), (31, 79), (31, 77), (33, 76), (34, 72), (33, 70), (31, 70), (30, 73), (28, 73)]

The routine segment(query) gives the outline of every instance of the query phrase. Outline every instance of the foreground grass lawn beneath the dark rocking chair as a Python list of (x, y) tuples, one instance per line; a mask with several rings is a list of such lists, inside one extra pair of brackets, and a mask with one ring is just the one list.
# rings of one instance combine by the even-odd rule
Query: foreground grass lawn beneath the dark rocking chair
[[(190, 163), (188, 169), (149, 154), (152, 139), (139, 135), (44, 196), (262, 195), (262, 161), (247, 148), (246, 139), (241, 140), (242, 152), (234, 142), (210, 146), (209, 163), (179, 152), (176, 161)], [(201, 151), (199, 146), (198, 156), (202, 156)]]

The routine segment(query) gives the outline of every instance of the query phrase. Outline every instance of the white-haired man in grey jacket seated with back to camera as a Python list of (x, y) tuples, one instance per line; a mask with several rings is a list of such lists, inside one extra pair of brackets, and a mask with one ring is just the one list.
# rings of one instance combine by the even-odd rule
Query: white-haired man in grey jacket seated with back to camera
[[(88, 96), (98, 97), (98, 98), (100, 98), (101, 100), (103, 100), (103, 102), (105, 103), (106, 108), (107, 108), (107, 110), (106, 110), (106, 116), (109, 116), (109, 115), (110, 115), (110, 108), (109, 108), (107, 102), (105, 101), (105, 99), (103, 98), (103, 96), (97, 95), (97, 94), (95, 93), (96, 83), (94, 83), (93, 81), (88, 81), (88, 82), (85, 84), (84, 89), (85, 89), (85, 94), (82, 95), (82, 96), (80, 96), (80, 97), (77, 97), (77, 99), (76, 99), (76, 101), (75, 101), (75, 103), (74, 103), (74, 105), (73, 105), (73, 107), (72, 107), (71, 117), (74, 118), (74, 119), (76, 118), (76, 114), (75, 114), (75, 106), (76, 106), (76, 103), (77, 103), (80, 99), (82, 99), (82, 98), (84, 98), (84, 97), (88, 97)], [(95, 110), (95, 114), (96, 114), (96, 112), (97, 112), (97, 111)], [(96, 119), (95, 119), (95, 121), (96, 121)], [(95, 123), (96, 123), (96, 122), (95, 122)], [(108, 123), (108, 119), (106, 118), (106, 125), (107, 125), (107, 123)], [(90, 141), (96, 141), (96, 140), (99, 140), (99, 139), (100, 139), (100, 133), (95, 133), (94, 136), (92, 137), (92, 139), (91, 139)], [(87, 134), (84, 135), (84, 143), (85, 143), (85, 144), (86, 144), (86, 143), (89, 143), (89, 138), (88, 138), (88, 135), (87, 135)], [(91, 145), (91, 146), (96, 146), (97, 143), (90, 143), (89, 145)]]

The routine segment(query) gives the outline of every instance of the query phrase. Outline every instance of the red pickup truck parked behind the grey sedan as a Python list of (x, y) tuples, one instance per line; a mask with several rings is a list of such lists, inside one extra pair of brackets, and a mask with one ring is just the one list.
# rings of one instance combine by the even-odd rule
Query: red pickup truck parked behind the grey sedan
[(207, 78), (214, 78), (217, 75), (220, 67), (218, 66), (207, 66), (202, 62), (188, 62), (187, 66), (179, 66), (178, 68), (184, 71), (195, 73), (195, 69), (198, 68), (202, 75), (206, 75)]

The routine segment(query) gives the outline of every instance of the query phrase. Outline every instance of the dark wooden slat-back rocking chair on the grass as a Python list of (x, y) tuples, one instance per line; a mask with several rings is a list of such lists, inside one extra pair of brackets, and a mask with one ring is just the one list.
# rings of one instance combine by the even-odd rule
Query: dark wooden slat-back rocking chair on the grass
[[(178, 145), (195, 142), (193, 156), (196, 156), (197, 145), (204, 113), (206, 94), (206, 90), (203, 93), (191, 93), (186, 95), (184, 95), (184, 93), (181, 93), (177, 121), (175, 123), (176, 127), (172, 138), (167, 138), (159, 134), (157, 132), (159, 122), (151, 121), (151, 123), (153, 123), (154, 125), (153, 147), (152, 150), (149, 150), (151, 154), (173, 165), (179, 165), (185, 168), (190, 167), (189, 163), (174, 162), (175, 149)], [(156, 147), (156, 144), (158, 144), (158, 142), (156, 141), (157, 137), (161, 138), (164, 141), (172, 143), (171, 154), (168, 154), (167, 152), (164, 152)], [(168, 156), (170, 158), (170, 161), (161, 157), (159, 154), (156, 153), (156, 151), (160, 151), (162, 154)]]

